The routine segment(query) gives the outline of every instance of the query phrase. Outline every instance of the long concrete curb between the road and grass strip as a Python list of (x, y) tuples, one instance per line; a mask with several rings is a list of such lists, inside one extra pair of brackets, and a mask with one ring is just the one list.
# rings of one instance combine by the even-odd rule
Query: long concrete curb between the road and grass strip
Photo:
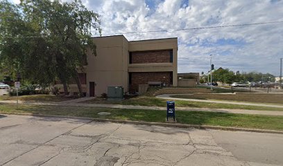
[(37, 117), (46, 117), (46, 118), (69, 118), (69, 119), (78, 119), (78, 120), (91, 120), (95, 122), (114, 122), (114, 123), (123, 123), (123, 124), (136, 124), (136, 125), (148, 125), (148, 126), (160, 126), (160, 127), (178, 127), (178, 128), (195, 128), (195, 129), (217, 129), (224, 131), (246, 131), (246, 132), (256, 132), (256, 133), (279, 133), (283, 134), (283, 131), (276, 130), (265, 130), (265, 129), (247, 129), (239, 127), (221, 127), (221, 126), (209, 126), (209, 125), (197, 125), (197, 124), (180, 124), (172, 122), (142, 122), (142, 121), (131, 121), (131, 120), (112, 120), (112, 119), (101, 119), (101, 118), (84, 118), (76, 116), (52, 116), (52, 115), (42, 115), (42, 114), (33, 114), (33, 113), (8, 113), (0, 112), (0, 114), (7, 115), (17, 115), (17, 116), (37, 116)]

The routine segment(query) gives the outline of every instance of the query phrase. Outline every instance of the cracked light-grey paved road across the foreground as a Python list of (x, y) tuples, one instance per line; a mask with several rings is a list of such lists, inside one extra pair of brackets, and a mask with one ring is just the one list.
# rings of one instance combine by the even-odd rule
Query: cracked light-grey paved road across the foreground
[(0, 116), (0, 165), (283, 165), (283, 135)]

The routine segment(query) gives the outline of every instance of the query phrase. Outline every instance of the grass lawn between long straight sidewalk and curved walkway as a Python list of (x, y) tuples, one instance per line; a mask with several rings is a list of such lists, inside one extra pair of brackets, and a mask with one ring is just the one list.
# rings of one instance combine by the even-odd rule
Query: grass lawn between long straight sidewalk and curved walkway
[[(87, 100), (83, 103), (89, 104), (122, 104), (122, 105), (139, 105), (139, 106), (156, 106), (166, 107), (166, 101), (164, 99), (141, 96), (137, 98), (130, 98), (122, 101), (108, 101), (101, 98), (93, 100)], [(237, 104), (221, 104), (221, 103), (209, 103), (209, 102), (191, 102), (184, 100), (175, 100), (175, 107), (195, 107), (195, 108), (209, 108), (209, 109), (247, 109), (247, 110), (261, 110), (261, 111), (283, 111), (283, 108), (274, 107), (257, 107), (246, 106)]]

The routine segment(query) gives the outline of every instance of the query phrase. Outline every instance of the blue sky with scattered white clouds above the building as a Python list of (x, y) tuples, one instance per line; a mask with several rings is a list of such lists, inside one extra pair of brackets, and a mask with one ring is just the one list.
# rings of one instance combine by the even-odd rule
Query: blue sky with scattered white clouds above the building
[(212, 55), (215, 68), (280, 75), (283, 23), (175, 30), (283, 21), (283, 0), (82, 1), (100, 15), (103, 36), (166, 30), (124, 36), (129, 41), (178, 37), (178, 73), (207, 73)]

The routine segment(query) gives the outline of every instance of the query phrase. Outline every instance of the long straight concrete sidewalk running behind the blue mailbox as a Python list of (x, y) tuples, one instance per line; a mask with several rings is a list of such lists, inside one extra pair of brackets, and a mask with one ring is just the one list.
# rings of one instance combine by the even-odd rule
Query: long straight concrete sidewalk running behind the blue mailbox
[[(121, 105), (121, 104), (88, 104), (88, 103), (76, 103), (77, 101), (78, 100), (69, 100), (69, 102), (52, 102), (52, 103), (51, 102), (50, 103), (19, 102), (19, 104), (103, 107), (103, 108), (112, 108), (112, 109), (145, 109), (145, 110), (157, 110), (157, 111), (166, 110), (166, 107), (148, 107), (148, 106)], [(6, 101), (0, 101), (0, 103), (16, 104), (17, 101), (6, 100)], [(221, 112), (221, 113), (244, 113), (244, 114), (265, 115), (265, 116), (283, 116), (283, 111), (257, 111), (257, 110), (246, 110), (246, 109), (208, 109), (208, 108), (192, 108), (192, 107), (176, 107), (175, 110), (176, 111), (209, 111), (209, 112)]]

